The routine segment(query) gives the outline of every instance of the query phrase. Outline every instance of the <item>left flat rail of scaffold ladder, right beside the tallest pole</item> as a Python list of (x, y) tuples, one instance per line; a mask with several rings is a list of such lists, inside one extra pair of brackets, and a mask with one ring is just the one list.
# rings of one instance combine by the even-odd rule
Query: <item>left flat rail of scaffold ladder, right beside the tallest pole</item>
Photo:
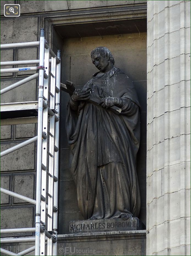
[[(49, 48), (45, 49), (45, 71), (46, 74), (49, 75)], [(44, 88), (43, 88), (43, 95), (44, 98), (47, 99), (48, 103), (48, 88), (49, 86), (49, 78), (44, 78)], [(48, 135), (48, 108), (43, 108), (43, 132)], [(46, 139), (42, 141), (42, 164), (47, 167), (47, 147), (48, 147), (48, 136)], [(41, 195), (45, 197), (45, 201), (41, 201), (41, 221), (46, 223), (46, 170), (42, 170), (41, 175)], [(40, 255), (45, 255), (45, 232), (40, 233)]]

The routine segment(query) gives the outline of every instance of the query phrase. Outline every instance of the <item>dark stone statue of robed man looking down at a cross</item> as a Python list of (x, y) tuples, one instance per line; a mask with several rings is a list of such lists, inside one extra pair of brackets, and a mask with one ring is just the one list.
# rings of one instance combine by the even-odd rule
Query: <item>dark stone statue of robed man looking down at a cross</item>
[[(140, 193), (136, 155), (140, 105), (132, 81), (106, 47), (91, 52), (99, 69), (68, 104), (66, 130), (70, 170), (84, 219), (138, 217)], [(99, 106), (89, 99), (99, 100)], [(110, 110), (121, 109), (120, 114)], [(130, 215), (130, 216), (129, 216)]]

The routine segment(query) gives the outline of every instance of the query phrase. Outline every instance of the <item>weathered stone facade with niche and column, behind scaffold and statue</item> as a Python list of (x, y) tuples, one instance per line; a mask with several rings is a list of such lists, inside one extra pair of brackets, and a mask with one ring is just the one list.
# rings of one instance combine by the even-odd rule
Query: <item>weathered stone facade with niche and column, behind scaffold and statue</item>
[[(4, 17), (4, 4), (8, 3), (20, 4), (20, 17)], [(146, 255), (189, 255), (190, 1), (1, 1), (1, 44), (37, 41), (42, 27), (52, 49), (61, 50), (62, 82), (68, 79), (82, 86), (95, 71), (89, 58), (90, 51), (100, 45), (107, 46), (114, 54), (116, 66), (132, 76), (142, 106), (137, 172), (142, 196), (140, 219), (143, 223), (146, 221), (147, 229)], [(37, 56), (35, 48), (6, 50), (1, 53), (1, 61), (37, 59)], [(83, 64), (81, 68), (76, 67), (77, 63)], [(26, 73), (3, 74), (1, 88), (25, 76)], [(36, 88), (37, 84), (32, 80), (3, 94), (1, 103), (35, 101)], [(67, 99), (68, 95), (62, 93), (62, 126)], [(37, 124), (1, 126), (1, 150), (35, 136), (36, 131)], [(88, 239), (67, 236), (69, 220), (82, 217), (66, 167), (68, 146), (64, 128), (60, 134), (60, 154), (65, 158), (60, 157), (58, 247), (79, 246), (80, 242), (83, 247)], [(1, 171), (3, 188), (35, 199), (36, 144), (2, 157)], [(1, 206), (6, 216), (1, 220), (1, 228), (34, 225), (33, 205), (2, 194)], [(116, 243), (118, 238), (119, 244)], [(120, 237), (105, 234), (97, 240), (93, 236), (90, 239), (94, 244), (101, 240), (102, 248), (106, 244), (118, 244), (120, 250), (114, 248), (116, 255), (145, 255), (144, 232)], [(137, 239), (139, 249), (135, 251), (134, 247), (128, 247), (127, 239), (134, 239), (134, 242)], [(4, 248), (19, 252), (30, 246), (12, 244), (10, 248), (6, 244)]]

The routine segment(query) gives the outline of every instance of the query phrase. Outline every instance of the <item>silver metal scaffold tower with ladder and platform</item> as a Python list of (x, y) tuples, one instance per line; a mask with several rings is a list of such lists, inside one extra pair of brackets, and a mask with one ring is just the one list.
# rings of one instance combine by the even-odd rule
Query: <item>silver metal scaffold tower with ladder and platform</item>
[[(1, 229), (1, 233), (35, 232), (33, 237), (1, 238), (1, 243), (35, 241), (35, 246), (15, 254), (2, 249), (7, 255), (25, 255), (35, 250), (35, 255), (57, 255), (57, 205), (58, 205), (58, 154), (59, 154), (59, 105), (60, 105), (60, 50), (56, 54), (40, 30), (40, 41), (29, 43), (2, 44), (1, 49), (40, 47), (39, 60), (1, 62), (5, 65), (37, 64), (37, 67), (4, 68), (1, 73), (37, 70), (1, 90), (6, 93), (17, 86), (38, 78), (38, 101), (1, 104), (1, 125), (37, 123), (37, 136), (1, 152), (1, 157), (37, 141), (36, 200), (1, 188), (1, 192), (36, 205), (35, 227)], [(51, 58), (49, 59), (49, 55)], [(51, 68), (49, 63), (51, 62)], [(50, 78), (50, 79), (49, 79)], [(38, 112), (37, 112), (38, 111)], [(8, 117), (8, 119), (6, 119)], [(49, 142), (48, 142), (49, 140)], [(47, 177), (48, 175), (48, 177)], [(48, 179), (48, 185), (46, 180)]]

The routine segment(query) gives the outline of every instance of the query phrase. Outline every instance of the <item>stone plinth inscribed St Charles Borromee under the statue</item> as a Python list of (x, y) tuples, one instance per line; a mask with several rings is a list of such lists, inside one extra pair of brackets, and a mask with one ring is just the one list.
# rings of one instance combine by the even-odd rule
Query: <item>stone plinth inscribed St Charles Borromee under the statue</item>
[(69, 227), (70, 233), (90, 233), (143, 229), (146, 229), (145, 225), (137, 217), (130, 217), (127, 220), (123, 220), (122, 218), (71, 220)]

